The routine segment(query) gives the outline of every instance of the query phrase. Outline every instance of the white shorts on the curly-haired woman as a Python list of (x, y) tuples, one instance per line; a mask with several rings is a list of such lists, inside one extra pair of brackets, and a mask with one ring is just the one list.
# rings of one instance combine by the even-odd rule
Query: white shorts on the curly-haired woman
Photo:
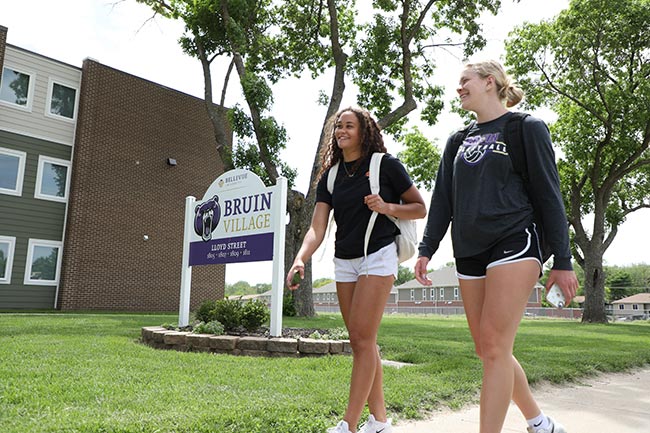
[(397, 279), (397, 245), (391, 242), (368, 258), (337, 259), (334, 257), (334, 278), (340, 283), (356, 283), (362, 275), (393, 275)]

